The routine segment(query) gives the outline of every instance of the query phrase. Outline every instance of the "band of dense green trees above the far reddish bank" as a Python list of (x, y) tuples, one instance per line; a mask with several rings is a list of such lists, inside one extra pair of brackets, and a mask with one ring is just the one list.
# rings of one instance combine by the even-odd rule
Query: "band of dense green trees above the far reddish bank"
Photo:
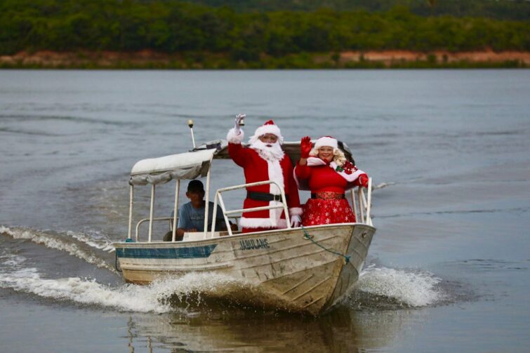
[(530, 51), (530, 22), (389, 11), (240, 13), (178, 1), (0, 0), (0, 53), (224, 53), (234, 60), (362, 50)]

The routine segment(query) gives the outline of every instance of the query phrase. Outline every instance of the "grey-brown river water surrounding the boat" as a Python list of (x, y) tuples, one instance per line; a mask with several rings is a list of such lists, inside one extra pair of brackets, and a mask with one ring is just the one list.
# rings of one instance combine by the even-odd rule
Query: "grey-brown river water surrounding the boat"
[[(529, 97), (529, 70), (0, 71), (1, 351), (527, 352)], [(247, 136), (336, 136), (377, 185), (364, 272), (322, 317), (208, 300), (230, 278), (114, 269), (133, 164), (239, 112)], [(213, 168), (213, 187), (243, 181)]]

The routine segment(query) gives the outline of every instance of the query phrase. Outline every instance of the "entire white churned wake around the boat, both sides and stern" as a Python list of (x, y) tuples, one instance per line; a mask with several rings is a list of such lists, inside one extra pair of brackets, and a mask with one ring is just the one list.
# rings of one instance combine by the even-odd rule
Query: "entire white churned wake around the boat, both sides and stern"
[[(95, 251), (114, 251), (104, 236), (82, 233), (56, 234), (18, 227), (1, 227), (0, 234), (65, 251), (69, 255), (115, 272)], [(223, 274), (190, 273), (178, 279), (154, 281), (149, 286), (105, 285), (95, 279), (63, 277), (51, 279), (39, 269), (24, 266), (21, 255), (0, 255), (0, 288), (51, 300), (70, 300), (79, 305), (112, 307), (125, 312), (197, 311), (219, 305), (242, 307), (237, 298), (264, 295), (252, 284)], [(354, 309), (399, 309), (437, 305), (446, 300), (441, 279), (430, 272), (369, 266), (341, 305)]]

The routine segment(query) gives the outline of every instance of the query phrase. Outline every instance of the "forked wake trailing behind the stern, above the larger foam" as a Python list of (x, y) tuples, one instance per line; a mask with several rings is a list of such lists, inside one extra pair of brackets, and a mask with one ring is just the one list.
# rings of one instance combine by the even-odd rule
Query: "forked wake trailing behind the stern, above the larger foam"
[[(113, 265), (107, 263), (93, 251), (93, 249), (106, 252), (114, 251), (114, 247), (110, 245), (110, 241), (107, 239), (94, 239), (74, 232), (58, 234), (36, 229), (22, 227), (8, 228), (3, 226), (0, 226), (0, 234), (7, 235), (13, 239), (32, 241), (35, 244), (41, 244), (58, 251), (65, 251), (69, 255), (80, 258), (96, 267), (116, 272)], [(77, 239), (77, 242), (72, 241), (72, 238)]]

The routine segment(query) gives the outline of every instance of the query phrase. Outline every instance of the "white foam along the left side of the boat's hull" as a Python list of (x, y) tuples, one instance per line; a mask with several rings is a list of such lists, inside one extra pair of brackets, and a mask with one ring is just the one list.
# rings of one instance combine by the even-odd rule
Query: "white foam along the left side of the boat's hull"
[(221, 295), (240, 286), (241, 281), (216, 274), (186, 274), (180, 279), (157, 281), (150, 286), (124, 284), (112, 288), (79, 277), (43, 279), (35, 268), (0, 272), (0, 287), (3, 288), (54, 300), (113, 307), (126, 312), (169, 312), (172, 309), (163, 300), (169, 295), (186, 295), (194, 291)]

